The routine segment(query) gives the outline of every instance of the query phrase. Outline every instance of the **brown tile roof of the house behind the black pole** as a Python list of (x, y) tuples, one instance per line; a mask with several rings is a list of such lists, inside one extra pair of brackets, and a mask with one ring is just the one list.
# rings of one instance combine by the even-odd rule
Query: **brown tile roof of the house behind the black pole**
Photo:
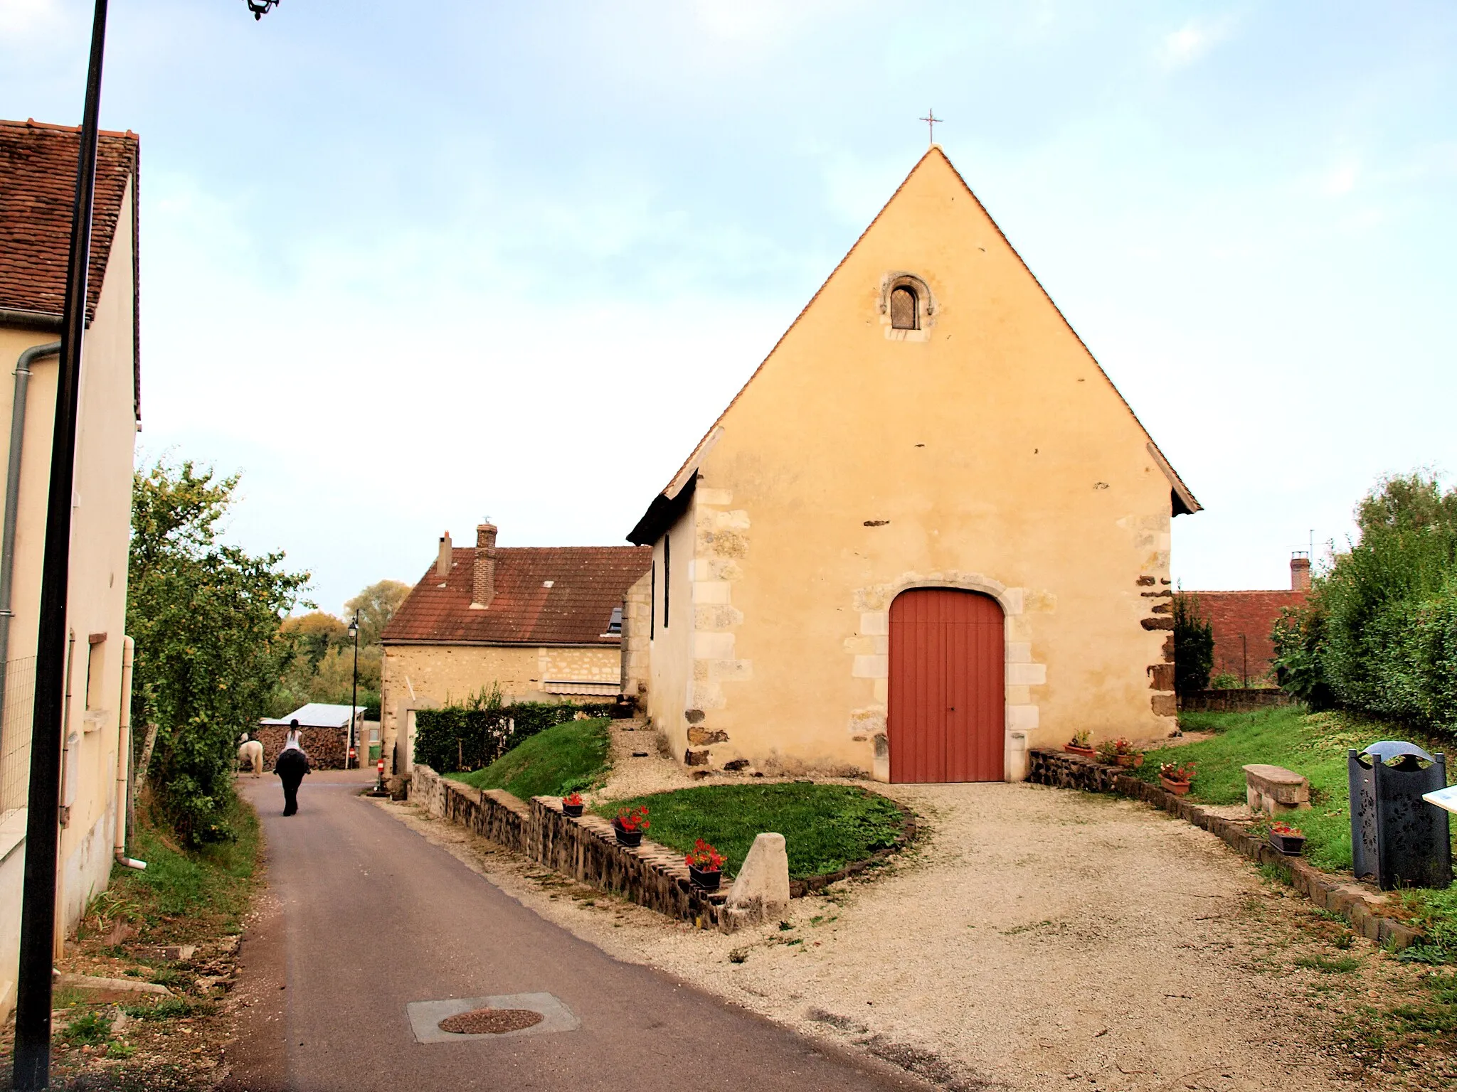
[[(66, 265), (71, 248), (71, 205), (80, 128), (36, 121), (0, 121), (0, 325), (58, 331), (66, 306)], [(141, 397), (138, 306), (137, 172), (141, 141), (136, 132), (102, 132), (96, 141), (96, 198), (86, 278), (86, 323), (96, 317), (106, 264), (117, 232), (131, 233), (133, 380)], [(131, 182), (130, 223), (121, 223)]]

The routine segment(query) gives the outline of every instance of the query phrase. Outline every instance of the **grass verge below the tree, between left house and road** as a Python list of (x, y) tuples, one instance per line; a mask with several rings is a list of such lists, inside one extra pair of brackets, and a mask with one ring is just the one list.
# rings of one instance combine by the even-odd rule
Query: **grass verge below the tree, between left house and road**
[(235, 837), (184, 850), (138, 810), (128, 852), (147, 862), (146, 872), (115, 866), (111, 887), (92, 900), (83, 927), (106, 932), (115, 922), (133, 922), (147, 941), (197, 932), (236, 933), (248, 911), (254, 874), (262, 849), (258, 815), (240, 799), (227, 812)]

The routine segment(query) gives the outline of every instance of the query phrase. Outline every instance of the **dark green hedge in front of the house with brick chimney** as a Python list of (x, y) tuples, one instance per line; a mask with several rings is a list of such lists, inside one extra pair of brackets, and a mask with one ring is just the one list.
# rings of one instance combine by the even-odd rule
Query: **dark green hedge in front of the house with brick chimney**
[(472, 700), (415, 713), (415, 761), (437, 773), (479, 770), (536, 732), (587, 716), (612, 716), (613, 702), (516, 702), (494, 705)]

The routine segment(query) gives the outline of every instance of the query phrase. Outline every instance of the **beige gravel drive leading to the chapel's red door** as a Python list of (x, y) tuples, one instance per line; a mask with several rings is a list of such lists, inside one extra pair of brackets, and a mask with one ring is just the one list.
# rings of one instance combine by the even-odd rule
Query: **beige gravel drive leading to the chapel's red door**
[[(619, 753), (654, 757), (619, 759), (597, 795), (694, 783), (622, 743), (647, 732), (615, 735)], [(382, 807), (610, 955), (953, 1091), (1423, 1086), (1330, 1045), (1359, 1005), (1407, 992), (1412, 968), (1349, 941), (1214, 836), (1132, 801), (1036, 785), (871, 788), (922, 817), (916, 846), (733, 936)], [(1320, 954), (1359, 967), (1297, 964)]]

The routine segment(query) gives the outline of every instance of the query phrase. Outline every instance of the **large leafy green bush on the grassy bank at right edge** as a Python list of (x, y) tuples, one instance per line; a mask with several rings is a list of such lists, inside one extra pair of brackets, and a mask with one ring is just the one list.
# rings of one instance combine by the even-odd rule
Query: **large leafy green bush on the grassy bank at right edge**
[(1457, 489), (1384, 480), (1356, 507), (1359, 542), (1275, 626), (1297, 696), (1457, 731)]

